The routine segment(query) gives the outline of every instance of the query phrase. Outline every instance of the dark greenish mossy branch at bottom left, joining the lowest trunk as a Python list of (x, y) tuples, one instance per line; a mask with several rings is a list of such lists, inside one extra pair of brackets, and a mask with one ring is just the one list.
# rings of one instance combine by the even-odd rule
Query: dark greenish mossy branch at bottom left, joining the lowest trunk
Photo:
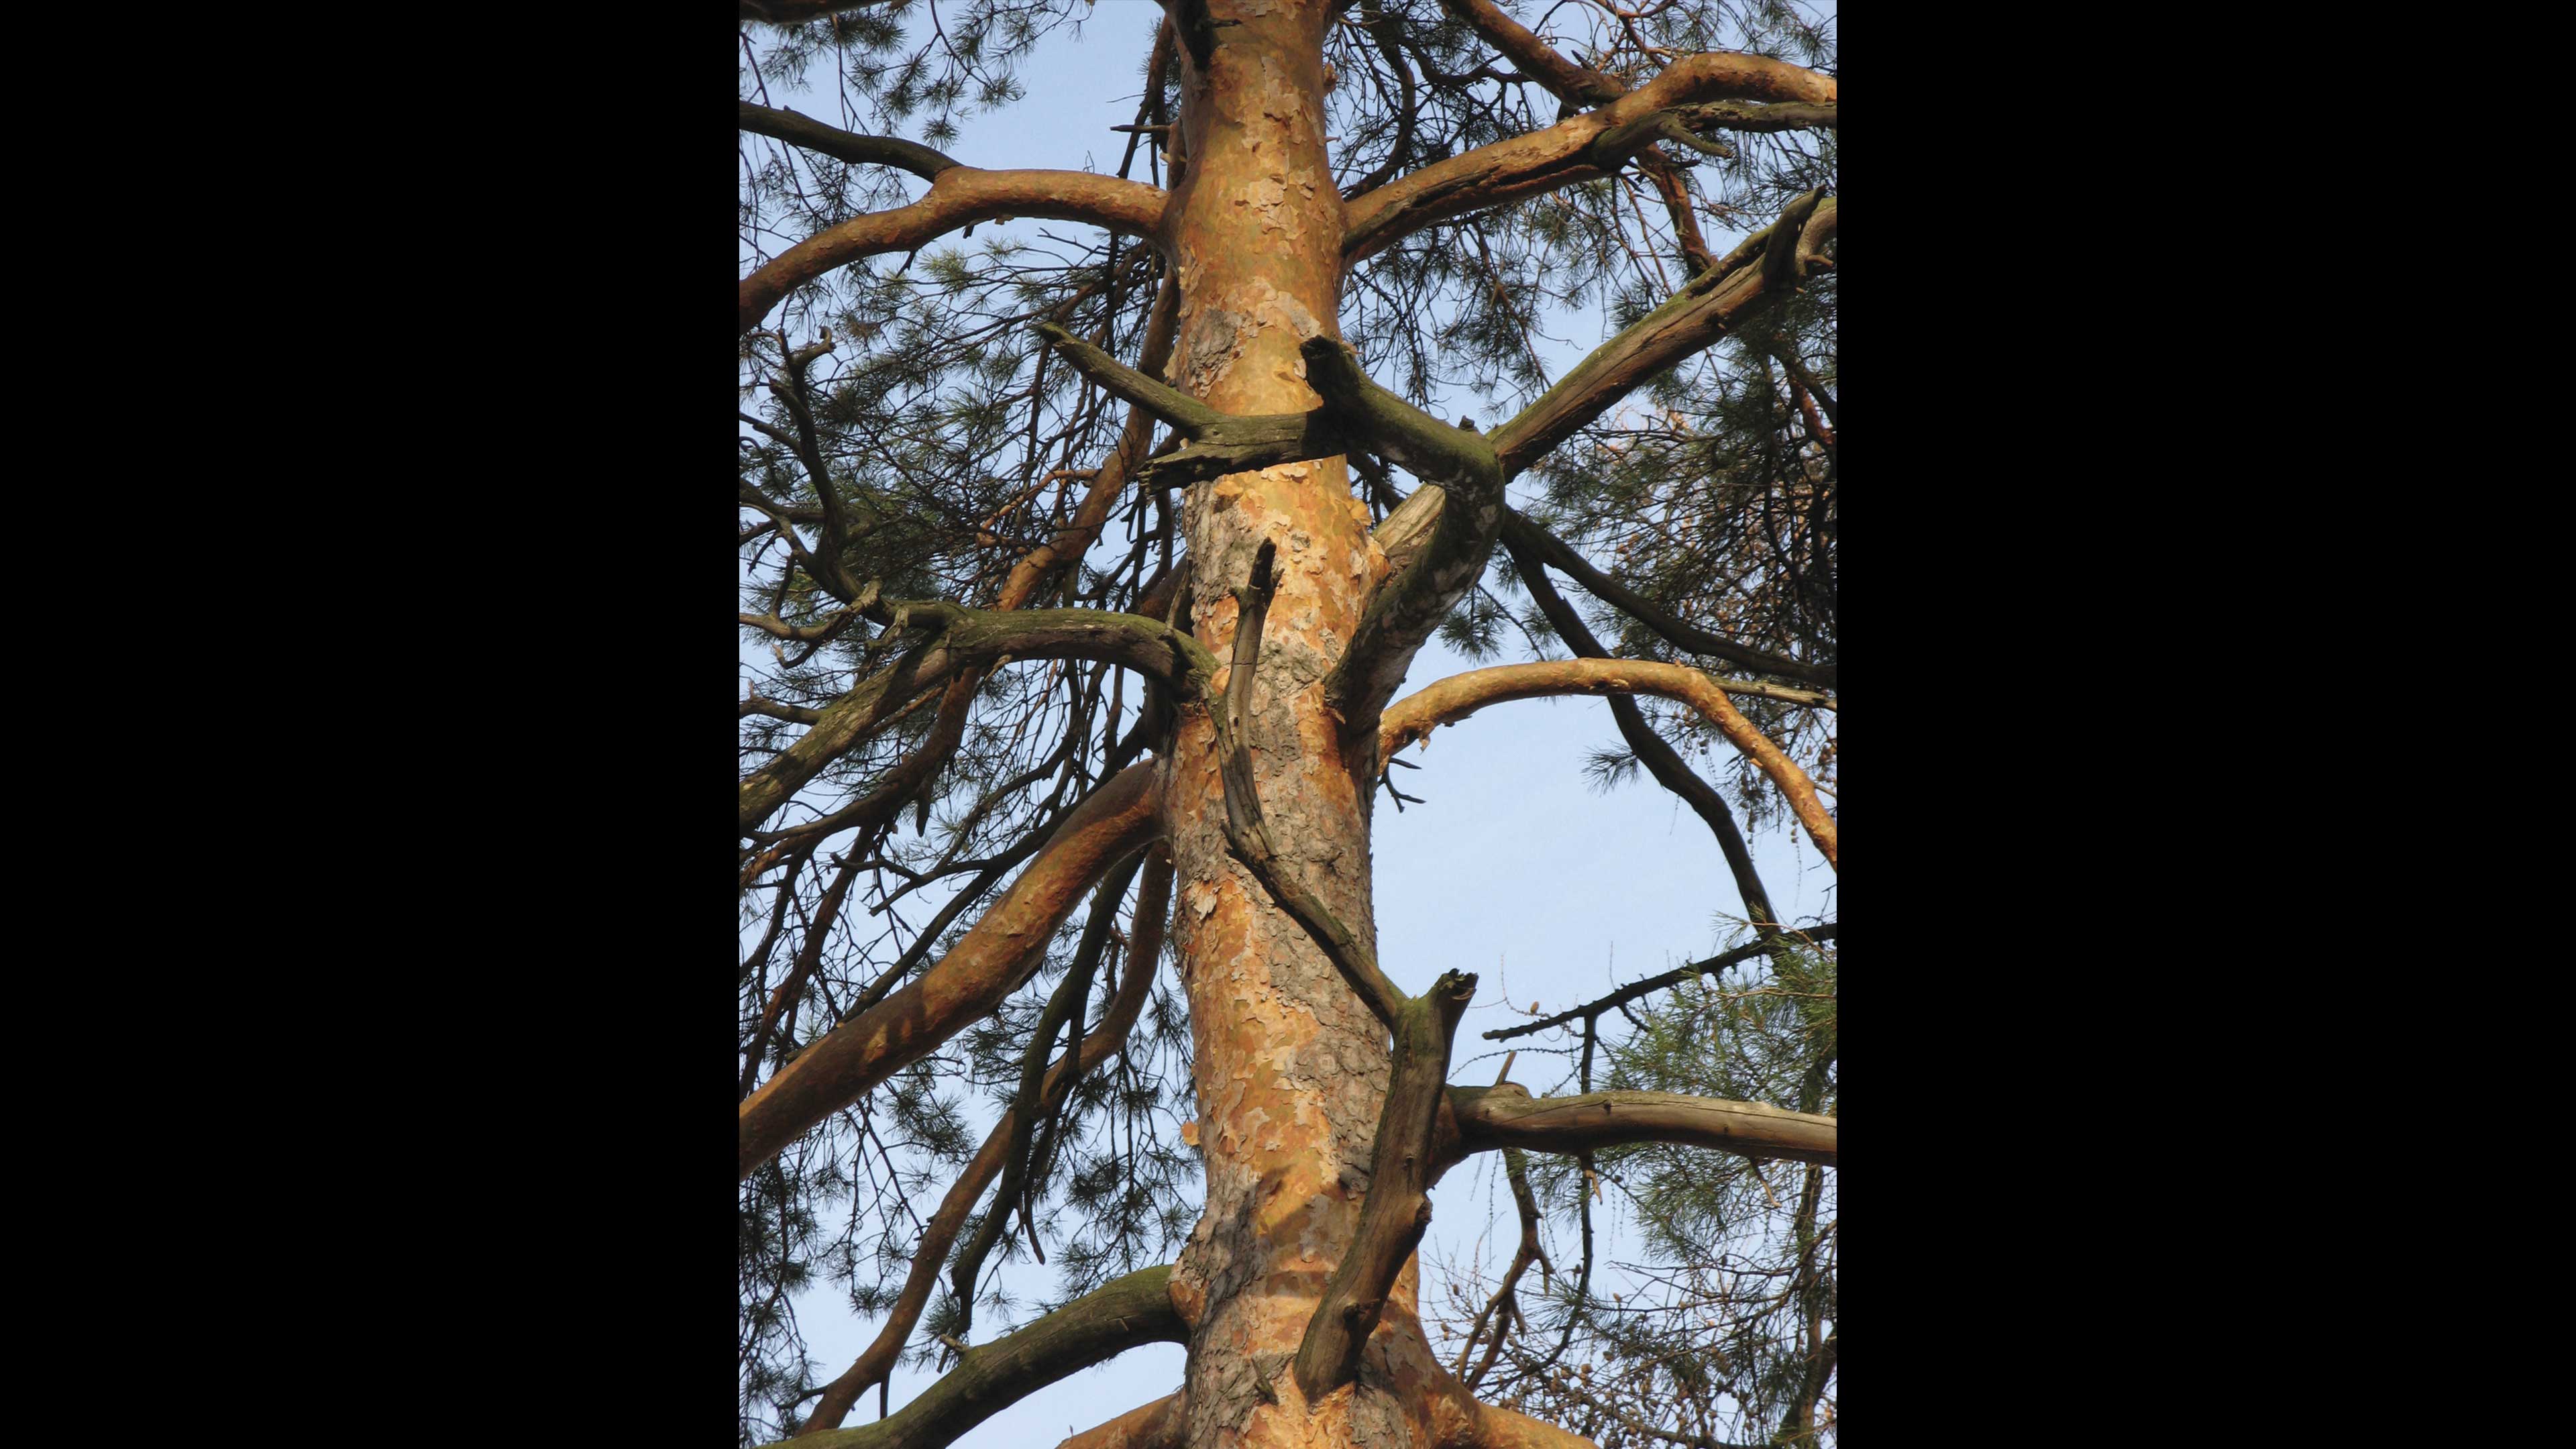
[(1103, 1364), (1139, 1343), (1185, 1343), (1172, 1307), (1172, 1269), (1144, 1269), (1103, 1284), (1028, 1328), (966, 1348), (956, 1369), (894, 1415), (863, 1428), (799, 1439), (811, 1449), (945, 1449), (994, 1413), (1046, 1385)]

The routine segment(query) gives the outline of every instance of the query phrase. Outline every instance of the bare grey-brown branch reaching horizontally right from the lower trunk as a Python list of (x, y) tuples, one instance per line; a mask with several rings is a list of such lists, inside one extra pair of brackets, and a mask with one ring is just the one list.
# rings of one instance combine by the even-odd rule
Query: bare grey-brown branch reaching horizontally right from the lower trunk
[(1473, 1152), (1589, 1152), (1623, 1142), (1685, 1142), (1747, 1158), (1837, 1165), (1837, 1119), (1759, 1101), (1718, 1101), (1669, 1091), (1530, 1096), (1520, 1083), (1448, 1088), (1458, 1137), (1443, 1142), (1448, 1168)]

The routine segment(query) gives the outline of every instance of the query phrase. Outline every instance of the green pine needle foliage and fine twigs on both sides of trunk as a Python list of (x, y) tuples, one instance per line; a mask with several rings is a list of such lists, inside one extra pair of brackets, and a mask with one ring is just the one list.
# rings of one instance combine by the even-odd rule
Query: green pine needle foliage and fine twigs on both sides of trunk
[[(1540, 8), (1512, 5), (1538, 23)], [(1115, 26), (1141, 59), (1149, 8)], [(750, 101), (799, 108), (853, 131), (917, 137), (933, 147), (984, 139), (1012, 124), (1025, 98), (1020, 67), (1038, 39), (1092, 15), (1084, 0), (899, 0), (799, 28), (755, 26), (739, 64)], [(1334, 180), (1345, 193), (1437, 157), (1558, 121), (1564, 106), (1528, 77), (1504, 75), (1492, 49), (1437, 0), (1360, 0), (1332, 28), (1324, 59)], [(1747, 49), (1832, 70), (1832, 21), (1785, 0), (1685, 0), (1615, 21), (1558, 8), (1546, 28), (1566, 54), (1623, 83), (1669, 54)], [(1394, 57), (1388, 54), (1388, 41)], [(1412, 103), (1396, 67), (1412, 83)], [(1175, 67), (1177, 70), (1177, 67)], [(1139, 70), (1141, 77), (1141, 70)], [(773, 95), (773, 88), (781, 95)], [(1141, 90), (1141, 83), (1136, 85)], [(1136, 121), (1177, 113), (1177, 75), (1136, 98)], [(1741, 134), (1734, 160), (1664, 147), (1687, 165), (1695, 217), (1723, 255), (1777, 209), (1837, 180), (1832, 131)], [(1139, 144), (1121, 175), (1164, 180)], [(744, 268), (788, 245), (920, 196), (894, 168), (744, 137), (737, 206)], [(1564, 374), (1564, 358), (1643, 317), (1687, 278), (1674, 222), (1636, 170), (1430, 227), (1363, 263), (1345, 286), (1342, 333), (1373, 379), (1443, 415), (1507, 420)], [(884, 598), (989, 606), (1012, 565), (1048, 544), (1087, 490), (1087, 472), (1118, 441), (1126, 407), (1041, 358), (1030, 322), (1054, 320), (1133, 361), (1164, 286), (1159, 258), (1082, 227), (979, 227), (914, 255), (884, 255), (796, 289), (739, 348), (739, 482), (786, 518), (806, 549), (837, 547), (850, 578)], [(806, 369), (819, 469), (799, 446), (799, 418), (770, 389), (791, 348), (829, 335)], [(1512, 490), (1512, 503), (1656, 608), (1816, 665), (1837, 663), (1839, 462), (1811, 420), (1837, 374), (1837, 284), (1819, 273), (1790, 304), (1728, 343), (1672, 369), (1556, 449)], [(1808, 379), (1801, 389), (1790, 364)], [(1363, 462), (1365, 472), (1365, 462)], [(1396, 490), (1414, 480), (1396, 474)], [(827, 492), (824, 492), (827, 490)], [(827, 541), (824, 500), (845, 529)], [(1383, 498), (1370, 498), (1383, 505)], [(1180, 500), (1128, 487), (1097, 544), (1043, 578), (1028, 606), (1136, 608), (1180, 562)], [(793, 565), (778, 526), (737, 518), (737, 608), (786, 629), (827, 629), (822, 642), (744, 632), (744, 683), (788, 709), (822, 709), (889, 668), (904, 639), (853, 619)], [(1564, 580), (1558, 580), (1564, 585)], [(1497, 552), (1440, 637), (1476, 660), (1556, 657), (1564, 645)], [(1713, 668), (1654, 629), (1564, 588), (1600, 639), (1633, 657)], [(935, 704), (935, 699), (933, 699)], [(850, 750), (770, 825), (814, 820), (868, 797), (914, 758), (933, 704)], [(1747, 717), (1834, 784), (1832, 714), (1739, 699)], [(1680, 709), (1643, 704), (1659, 732), (1716, 776), (1752, 828), (1777, 822), (1775, 792)], [(1113, 773), (1115, 750), (1144, 709), (1141, 686), (1105, 665), (1012, 663), (989, 673), (969, 722), (907, 810), (866, 833), (817, 841), (750, 882), (742, 908), (737, 1026), (744, 1083), (755, 1085), (835, 1021), (935, 962), (999, 900), (1033, 841)], [(742, 763), (755, 768), (801, 724), (747, 714)], [(1716, 748), (1713, 748), (1716, 745)], [(1597, 786), (1638, 779), (1631, 753), (1587, 768)], [(755, 841), (770, 846), (773, 841)], [(744, 851), (744, 861), (757, 859)], [(850, 874), (829, 928), (832, 882)], [(1007, 1104), (1025, 1039), (1061, 982), (1082, 913), (1046, 949), (1028, 982), (938, 1057), (914, 1062), (866, 1101), (742, 1183), (739, 1390), (742, 1441), (796, 1421), (796, 1403), (842, 1364), (811, 1364), (796, 1294), (829, 1284), (853, 1312), (884, 1315), (920, 1240), (920, 1220), (979, 1147)], [(1128, 923), (1133, 931), (1133, 923)], [(799, 964), (801, 962), (801, 964)], [(1084, 1006), (1097, 1024), (1126, 969), (1113, 949)], [(1783, 949), (1726, 980), (1695, 982), (1602, 1021), (1589, 1078), (1574, 1085), (1690, 1091), (1834, 1106), (1834, 954)], [(1569, 1062), (1579, 1057), (1569, 1047)], [(1582, 1067), (1569, 1078), (1584, 1075)], [(1806, 1106), (1814, 1101), (1816, 1106)], [(1198, 1217), (1200, 1165), (1177, 1142), (1195, 1116), (1190, 1026), (1180, 995), (1157, 982), (1126, 1044), (1090, 1073), (1043, 1134), (1033, 1220), (1018, 1204), (984, 1274), (976, 1310), (945, 1294), (912, 1333), (912, 1354), (938, 1361), (938, 1336), (999, 1333), (1092, 1287), (1170, 1261)], [(1579, 1163), (1533, 1160), (1548, 1209), (1556, 1271), (1522, 1292), (1489, 1397), (1517, 1400), (1605, 1449), (1625, 1434), (1610, 1408), (1651, 1410), (1721, 1441), (1770, 1439), (1806, 1392), (1806, 1328), (1832, 1307), (1832, 1171), (1772, 1165), (1674, 1147), (1600, 1152), (1600, 1178)], [(1600, 1194), (1600, 1196), (1595, 1196)], [(1814, 1201), (1808, 1201), (1814, 1199)], [(1628, 1214), (1656, 1263), (1589, 1263), (1592, 1214)], [(1036, 1269), (1030, 1230), (1046, 1253)], [(963, 1235), (963, 1240), (971, 1240)], [(1025, 1269), (1010, 1269), (1025, 1263)], [(1028, 1292), (1028, 1284), (1043, 1289)], [(1783, 1284), (1793, 1292), (1783, 1294)], [(1620, 1297), (1625, 1294), (1625, 1297)], [(1425, 1294), (1432, 1297), (1430, 1292)], [(971, 1323), (969, 1323), (971, 1318)], [(1832, 1318), (1829, 1312), (1824, 1315)], [(1826, 1397), (1829, 1403), (1829, 1397)], [(1832, 1428), (1824, 1441), (1832, 1441)]]

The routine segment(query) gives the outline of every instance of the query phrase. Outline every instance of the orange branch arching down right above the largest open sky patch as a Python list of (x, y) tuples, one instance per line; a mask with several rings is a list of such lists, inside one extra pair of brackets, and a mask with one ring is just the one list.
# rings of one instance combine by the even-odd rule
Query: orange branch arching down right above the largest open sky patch
[[(1765, 694), (1772, 686), (1741, 686), (1744, 694)], [(1685, 665), (1667, 665), (1651, 660), (1548, 660), (1535, 665), (1499, 665), (1489, 670), (1468, 670), (1461, 676), (1443, 678), (1419, 694), (1404, 699), (1378, 722), (1378, 758), (1388, 758), (1404, 745), (1430, 735), (1440, 724), (1453, 724), (1468, 714), (1484, 709), (1486, 704), (1502, 704), (1507, 699), (1543, 699), (1558, 694), (1656, 694), (1664, 699), (1677, 699), (1692, 706), (1700, 719), (1708, 719), (1726, 743), (1744, 750), (1754, 766), (1770, 776), (1780, 794), (1788, 797), (1790, 812), (1806, 825), (1816, 848), (1839, 871), (1842, 861), (1837, 856), (1839, 838), (1834, 817), (1824, 812), (1824, 802), (1816, 799), (1816, 781), (1798, 768), (1780, 745), (1772, 745), (1752, 719), (1744, 717), (1726, 699), (1726, 686), (1708, 678), (1705, 673)], [(1814, 704), (1821, 696), (1806, 691), (1772, 691), (1785, 694), (1801, 704)]]

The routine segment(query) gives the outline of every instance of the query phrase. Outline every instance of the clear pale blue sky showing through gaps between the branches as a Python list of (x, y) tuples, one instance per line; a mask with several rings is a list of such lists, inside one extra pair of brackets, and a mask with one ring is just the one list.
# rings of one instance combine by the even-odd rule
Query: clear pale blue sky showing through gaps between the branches
[[(1110, 126), (1136, 119), (1139, 67), (1157, 21), (1159, 5), (1154, 0), (1100, 0), (1079, 39), (1072, 34), (1048, 36), (1038, 54), (1020, 67), (1020, 80), (1028, 88), (1025, 101), (997, 116), (961, 121), (961, 137), (940, 150), (966, 165), (1113, 173), (1126, 137), (1113, 134)], [(829, 70), (817, 67), (811, 80), (819, 88), (809, 93), (770, 85), (770, 103), (837, 124), (840, 103), (829, 90)], [(1144, 178), (1141, 160), (1136, 175)], [(912, 193), (922, 188), (925, 183), (914, 183)], [(1012, 232), (1036, 240), (1038, 227), (1018, 222)], [(1046, 222), (1043, 227), (1077, 229), (1069, 222)], [(979, 227), (976, 240), (984, 235)], [(1718, 229), (1708, 235), (1718, 253), (1734, 240)], [(1551, 320), (1548, 327), (1569, 335), (1564, 320)], [(1540, 343), (1551, 376), (1561, 376), (1600, 335), (1597, 317), (1582, 317), (1571, 322), (1574, 348)], [(1443, 400), (1455, 413), (1476, 410), (1471, 402), (1468, 397)], [(734, 567), (739, 578), (739, 562)], [(1564, 585), (1564, 590), (1569, 601), (1584, 601), (1579, 588)], [(1484, 665), (1525, 657), (1517, 634), (1507, 637), (1512, 647)], [(747, 642), (742, 657), (770, 665), (765, 645), (757, 642)], [(1414, 660), (1396, 696), (1471, 668), (1481, 665), (1435, 639)], [(1520, 1008), (1533, 1000), (1556, 1013), (1602, 995), (1613, 985), (1708, 957), (1731, 941), (1731, 926), (1723, 915), (1741, 908), (1726, 874), (1726, 859), (1700, 817), (1643, 773), (1610, 794), (1589, 789), (1584, 761), (1595, 750), (1618, 748), (1623, 740), (1610, 719), (1610, 706), (1600, 699), (1499, 704), (1440, 730), (1427, 748), (1417, 745), (1404, 753), (1422, 768), (1396, 771), (1396, 784), (1404, 786), (1404, 794), (1425, 797), (1425, 804), (1406, 804), (1404, 812), (1396, 812), (1383, 794), (1378, 799), (1381, 962), (1406, 990), (1422, 990), (1443, 969), (1466, 969), (1481, 977), (1476, 1006), (1458, 1031), (1453, 1083), (1484, 1085), (1494, 1080), (1502, 1044), (1484, 1042), (1481, 1034), (1525, 1021)], [(1723, 761), (1698, 761), (1700, 773), (1710, 779), (1718, 766)], [(822, 804), (829, 807), (829, 802)], [(1752, 851), (1772, 905), (1785, 920), (1834, 918), (1839, 910), (1829, 897), (1834, 871), (1795, 835), (1795, 828), (1770, 828), (1752, 835)], [(1546, 1093), (1571, 1070), (1553, 1057), (1535, 1055), (1548, 1042), (1551, 1036), (1510, 1042), (1522, 1049), (1512, 1080)], [(987, 1127), (989, 1114), (976, 1119), (976, 1137)], [(1499, 1186), (1499, 1171), (1489, 1171), (1492, 1163), (1499, 1163), (1499, 1155), (1468, 1160), (1432, 1189), (1432, 1225), (1422, 1243), (1425, 1315), (1432, 1312), (1440, 1294), (1437, 1263), (1473, 1261), (1479, 1248), (1489, 1274), (1510, 1261), (1517, 1222), (1510, 1194)], [(1615, 1194), (1597, 1212), (1597, 1222), (1602, 1225), (1602, 1258), (1636, 1256), (1628, 1253), (1633, 1238), (1620, 1222)], [(1577, 1248), (1571, 1240), (1558, 1248), (1551, 1238), (1548, 1256), (1571, 1269)], [(1012, 1289), (1028, 1299), (1054, 1289), (1048, 1269), (1015, 1263), (1005, 1274), (1010, 1274)], [(850, 1312), (842, 1292), (829, 1284), (801, 1294), (796, 1315), (822, 1379), (848, 1369), (878, 1325), (873, 1318), (860, 1320)], [(976, 1341), (999, 1336), (1002, 1328), (989, 1315), (979, 1315)], [(963, 1449), (1051, 1446), (1072, 1431), (1172, 1392), (1182, 1379), (1182, 1348), (1175, 1343), (1133, 1348), (1023, 1397), (958, 1444)], [(891, 1385), (894, 1408), (902, 1408), (930, 1379), (927, 1372), (899, 1366)], [(876, 1395), (868, 1395), (853, 1410), (850, 1423), (873, 1418)]]

